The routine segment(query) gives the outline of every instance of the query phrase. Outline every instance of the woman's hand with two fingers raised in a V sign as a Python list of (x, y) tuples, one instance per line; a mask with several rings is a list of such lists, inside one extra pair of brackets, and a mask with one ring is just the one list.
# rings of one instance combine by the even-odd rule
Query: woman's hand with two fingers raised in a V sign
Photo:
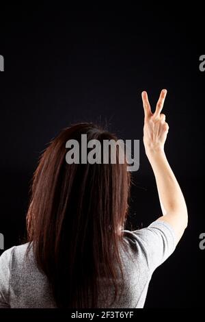
[(152, 152), (164, 151), (169, 125), (165, 122), (165, 114), (161, 114), (161, 110), (166, 95), (167, 90), (162, 90), (153, 114), (147, 92), (141, 93), (144, 110), (143, 144), (147, 155)]

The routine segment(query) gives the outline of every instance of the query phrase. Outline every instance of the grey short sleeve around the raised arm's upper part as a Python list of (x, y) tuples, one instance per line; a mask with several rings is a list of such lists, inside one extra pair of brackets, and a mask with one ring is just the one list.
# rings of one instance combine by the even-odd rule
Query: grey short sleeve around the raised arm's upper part
[(174, 230), (165, 221), (154, 221), (151, 225), (141, 230), (132, 232), (137, 243), (146, 257), (148, 268), (153, 272), (173, 253), (176, 248)]

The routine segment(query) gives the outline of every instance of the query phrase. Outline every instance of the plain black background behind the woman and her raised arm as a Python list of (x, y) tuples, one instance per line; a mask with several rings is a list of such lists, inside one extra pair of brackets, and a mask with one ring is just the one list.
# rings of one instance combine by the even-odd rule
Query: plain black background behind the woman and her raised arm
[(0, 232), (5, 249), (25, 235), (28, 190), (40, 152), (59, 129), (77, 121), (107, 124), (120, 138), (141, 141), (130, 221), (133, 228), (154, 221), (161, 209), (143, 150), (141, 91), (148, 91), (154, 106), (167, 88), (165, 150), (187, 201), (189, 227), (174, 255), (154, 273), (146, 308), (203, 306), (203, 20), (200, 5), (1, 8)]

